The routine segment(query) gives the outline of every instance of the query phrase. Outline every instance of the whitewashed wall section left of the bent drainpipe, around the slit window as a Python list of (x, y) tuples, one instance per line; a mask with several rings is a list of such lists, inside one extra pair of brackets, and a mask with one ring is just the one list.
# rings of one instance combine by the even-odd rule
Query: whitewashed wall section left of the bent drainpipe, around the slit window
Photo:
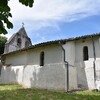
[[(40, 52), (44, 51), (44, 66), (40, 66)], [(63, 52), (59, 45), (49, 45), (5, 57), (2, 83), (20, 83), (25, 87), (38, 87), (66, 91)]]

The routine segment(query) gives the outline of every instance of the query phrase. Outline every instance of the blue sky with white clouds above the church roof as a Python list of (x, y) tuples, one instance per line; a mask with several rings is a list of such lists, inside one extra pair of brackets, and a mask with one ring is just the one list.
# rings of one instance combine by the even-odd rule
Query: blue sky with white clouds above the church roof
[(34, 0), (32, 8), (10, 0), (14, 28), (8, 38), (24, 23), (32, 44), (100, 32), (100, 0)]

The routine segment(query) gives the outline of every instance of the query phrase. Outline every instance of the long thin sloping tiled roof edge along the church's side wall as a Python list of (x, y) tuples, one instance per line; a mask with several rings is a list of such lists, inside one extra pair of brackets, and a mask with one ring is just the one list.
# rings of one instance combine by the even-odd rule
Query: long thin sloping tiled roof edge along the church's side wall
[(92, 38), (92, 37), (95, 37), (95, 36), (100, 36), (100, 33), (95, 33), (95, 34), (91, 34), (91, 35), (84, 35), (84, 36), (75, 37), (75, 38), (68, 38), (68, 39), (60, 39), (60, 40), (42, 42), (42, 43), (39, 43), (39, 44), (32, 45), (28, 48), (23, 48), (23, 49), (13, 51), (13, 52), (9, 52), (9, 53), (3, 54), (3, 55), (13, 54), (13, 53), (16, 53), (16, 52), (26, 51), (26, 50), (29, 50), (29, 49), (42, 47), (42, 46), (46, 46), (46, 45), (51, 45), (51, 44), (59, 44), (59, 43), (64, 44), (64, 43), (69, 42), (69, 41), (75, 41), (75, 40), (85, 39), (85, 38), (89, 38), (89, 37)]

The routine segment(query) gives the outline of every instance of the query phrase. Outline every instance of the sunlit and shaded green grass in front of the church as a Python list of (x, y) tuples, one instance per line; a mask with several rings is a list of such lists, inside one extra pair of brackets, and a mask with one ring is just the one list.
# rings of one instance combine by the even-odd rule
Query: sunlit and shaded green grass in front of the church
[(0, 100), (100, 100), (100, 92), (66, 94), (42, 89), (24, 89), (20, 85), (0, 85)]

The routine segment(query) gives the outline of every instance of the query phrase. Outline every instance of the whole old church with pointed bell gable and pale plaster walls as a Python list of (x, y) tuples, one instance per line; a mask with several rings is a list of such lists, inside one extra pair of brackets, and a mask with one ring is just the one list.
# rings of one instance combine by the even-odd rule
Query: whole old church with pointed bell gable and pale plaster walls
[(1, 84), (100, 89), (100, 33), (32, 45), (22, 27), (5, 44), (1, 60)]

